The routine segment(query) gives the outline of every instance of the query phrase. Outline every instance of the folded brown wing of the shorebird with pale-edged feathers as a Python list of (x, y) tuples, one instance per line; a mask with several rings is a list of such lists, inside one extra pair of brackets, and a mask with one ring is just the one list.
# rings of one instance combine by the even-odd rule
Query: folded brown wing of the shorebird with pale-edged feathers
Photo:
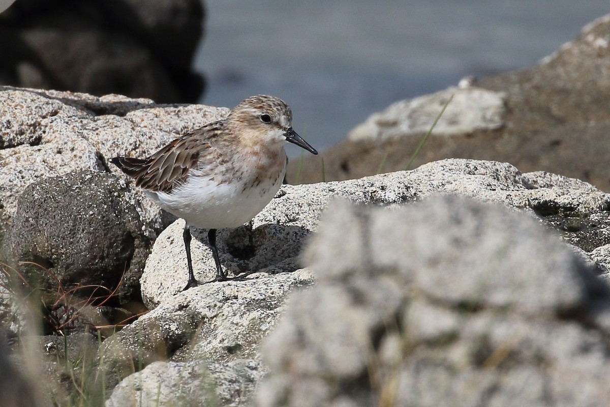
[(206, 124), (182, 135), (146, 159), (115, 157), (111, 162), (135, 180), (137, 187), (150, 191), (171, 192), (196, 168), (199, 157), (210, 154), (209, 141), (223, 130), (223, 121)]

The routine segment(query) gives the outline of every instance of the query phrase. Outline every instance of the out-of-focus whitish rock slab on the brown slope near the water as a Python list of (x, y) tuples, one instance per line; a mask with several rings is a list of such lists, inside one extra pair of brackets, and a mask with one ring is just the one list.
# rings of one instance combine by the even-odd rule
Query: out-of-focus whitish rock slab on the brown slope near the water
[(503, 93), (476, 87), (450, 87), (432, 95), (399, 101), (381, 113), (373, 113), (350, 132), (348, 139), (382, 140), (428, 132), (452, 96), (432, 134), (468, 134), (503, 126)]

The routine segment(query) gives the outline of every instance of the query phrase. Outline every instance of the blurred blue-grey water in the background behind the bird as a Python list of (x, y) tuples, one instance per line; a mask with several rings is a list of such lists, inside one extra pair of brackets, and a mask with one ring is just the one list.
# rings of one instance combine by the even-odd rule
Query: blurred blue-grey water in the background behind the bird
[[(205, 0), (201, 103), (279, 96), (318, 149), (400, 99), (530, 67), (610, 0)], [(301, 154), (290, 146), (289, 155)]]

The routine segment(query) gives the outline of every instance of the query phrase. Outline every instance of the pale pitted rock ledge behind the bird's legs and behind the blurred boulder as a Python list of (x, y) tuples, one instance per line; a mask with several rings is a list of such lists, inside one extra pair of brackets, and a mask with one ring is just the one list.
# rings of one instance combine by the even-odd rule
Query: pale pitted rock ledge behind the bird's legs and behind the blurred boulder
[[(290, 272), (300, 268), (298, 254), (328, 201), (343, 196), (366, 204), (398, 205), (434, 193), (472, 196), (483, 201), (525, 209), (565, 239), (589, 252), (610, 243), (610, 195), (590, 184), (545, 172), (522, 174), (510, 164), (448, 159), (412, 171), (402, 171), (343, 182), (283, 185), (278, 195), (253, 220), (253, 247), (242, 237), (220, 231), (217, 246), (229, 272)], [(142, 277), (142, 296), (153, 308), (179, 292), (187, 281), (182, 241), (184, 222), (176, 221), (157, 238)], [(205, 231), (192, 230), (193, 270), (201, 281), (215, 276)], [(235, 243), (235, 240), (238, 240)], [(265, 270), (265, 268), (267, 268)]]

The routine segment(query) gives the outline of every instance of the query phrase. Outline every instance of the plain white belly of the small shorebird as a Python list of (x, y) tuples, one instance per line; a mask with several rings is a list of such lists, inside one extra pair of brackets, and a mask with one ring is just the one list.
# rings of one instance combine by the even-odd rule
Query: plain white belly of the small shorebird
[(237, 228), (249, 222), (273, 199), (284, 180), (268, 179), (255, 187), (242, 182), (218, 185), (209, 178), (188, 179), (171, 193), (148, 192), (150, 198), (188, 225), (203, 229)]

